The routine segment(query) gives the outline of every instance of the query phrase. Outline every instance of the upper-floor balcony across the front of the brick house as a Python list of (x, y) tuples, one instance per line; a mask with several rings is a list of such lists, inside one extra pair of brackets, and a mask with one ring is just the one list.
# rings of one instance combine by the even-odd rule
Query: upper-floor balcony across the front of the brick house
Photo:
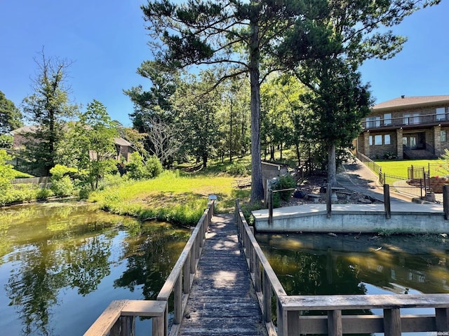
[(372, 117), (372, 120), (363, 120), (363, 131), (377, 130), (387, 131), (396, 130), (402, 127), (403, 130), (417, 130), (423, 127), (432, 126), (448, 126), (449, 127), (449, 113), (445, 114), (424, 114), (420, 116), (403, 116), (399, 118)]

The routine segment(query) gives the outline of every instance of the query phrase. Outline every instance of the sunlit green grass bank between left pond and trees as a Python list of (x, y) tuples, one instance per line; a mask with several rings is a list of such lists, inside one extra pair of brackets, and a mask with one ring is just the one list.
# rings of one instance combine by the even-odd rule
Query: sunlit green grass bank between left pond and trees
[(156, 179), (125, 181), (97, 191), (89, 200), (116, 214), (194, 225), (206, 209), (208, 195), (217, 195), (217, 211), (232, 211), (236, 198), (248, 202), (250, 188), (233, 188), (236, 178), (213, 165), (194, 173), (168, 170)]

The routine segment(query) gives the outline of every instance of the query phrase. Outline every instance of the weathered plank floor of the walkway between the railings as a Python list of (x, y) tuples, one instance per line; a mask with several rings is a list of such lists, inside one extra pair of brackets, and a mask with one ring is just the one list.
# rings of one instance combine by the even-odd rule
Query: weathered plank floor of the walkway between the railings
[(178, 335), (267, 335), (232, 214), (209, 225)]

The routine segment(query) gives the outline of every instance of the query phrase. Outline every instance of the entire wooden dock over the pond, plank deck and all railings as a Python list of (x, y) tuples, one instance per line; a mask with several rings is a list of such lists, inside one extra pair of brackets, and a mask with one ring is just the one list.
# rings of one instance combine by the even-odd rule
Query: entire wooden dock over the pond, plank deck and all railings
[[(157, 300), (112, 301), (84, 336), (133, 336), (137, 316), (152, 317), (154, 336), (448, 335), (449, 294), (288, 295), (246, 223), (239, 200), (239, 235), (231, 215), (213, 216), (214, 205), (210, 200)], [(435, 312), (401, 314), (410, 307), (434, 308)], [(381, 309), (383, 315), (342, 314), (359, 309)], [(327, 314), (303, 313), (312, 310)]]

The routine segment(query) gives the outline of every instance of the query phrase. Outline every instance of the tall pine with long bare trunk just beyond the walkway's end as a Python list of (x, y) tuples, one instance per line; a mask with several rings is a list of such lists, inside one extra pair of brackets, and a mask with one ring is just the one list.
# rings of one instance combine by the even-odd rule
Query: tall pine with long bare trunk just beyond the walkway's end
[[(276, 45), (295, 20), (297, 1), (149, 1), (142, 6), (156, 62), (169, 68), (199, 64), (227, 66), (215, 85), (250, 74), (251, 200), (263, 199), (260, 158), (260, 83), (279, 64), (271, 62)], [(214, 87), (213, 85), (212, 87)], [(210, 90), (210, 89), (209, 89)]]

